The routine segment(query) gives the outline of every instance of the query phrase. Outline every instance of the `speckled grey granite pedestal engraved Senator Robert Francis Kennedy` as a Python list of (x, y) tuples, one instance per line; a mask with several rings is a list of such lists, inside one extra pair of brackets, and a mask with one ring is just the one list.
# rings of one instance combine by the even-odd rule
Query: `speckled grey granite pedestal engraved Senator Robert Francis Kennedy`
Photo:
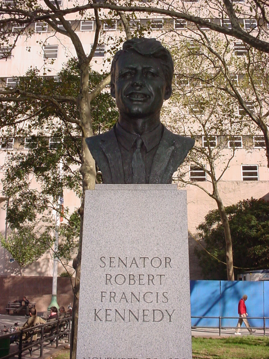
[(77, 359), (192, 358), (186, 191), (85, 197)]

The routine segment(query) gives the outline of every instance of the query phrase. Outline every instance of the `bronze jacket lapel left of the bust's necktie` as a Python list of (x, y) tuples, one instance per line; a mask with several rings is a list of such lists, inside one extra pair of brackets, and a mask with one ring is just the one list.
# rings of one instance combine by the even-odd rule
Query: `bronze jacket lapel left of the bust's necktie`
[[(112, 174), (112, 183), (124, 183), (122, 157), (117, 138), (114, 133), (114, 128), (107, 132), (107, 134), (107, 138), (104, 138), (104, 140), (101, 141), (100, 147), (107, 157)], [(111, 151), (112, 148), (114, 148), (113, 152)]]

